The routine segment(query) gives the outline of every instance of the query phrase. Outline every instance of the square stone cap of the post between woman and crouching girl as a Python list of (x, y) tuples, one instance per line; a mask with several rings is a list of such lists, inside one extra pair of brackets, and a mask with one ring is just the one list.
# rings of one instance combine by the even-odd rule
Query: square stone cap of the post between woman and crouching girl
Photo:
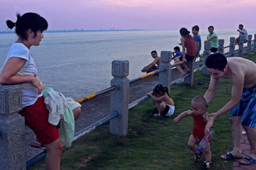
[(127, 77), (129, 75), (128, 60), (113, 60), (112, 61), (112, 76), (117, 78)]

